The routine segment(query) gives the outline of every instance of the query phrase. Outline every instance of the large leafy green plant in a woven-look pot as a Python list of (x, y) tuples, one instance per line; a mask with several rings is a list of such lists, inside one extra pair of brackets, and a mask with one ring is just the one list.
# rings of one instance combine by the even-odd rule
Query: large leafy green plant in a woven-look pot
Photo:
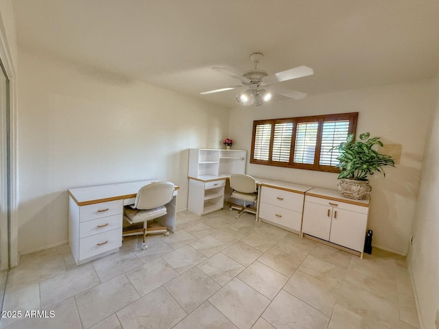
[(394, 160), (391, 156), (379, 154), (372, 149), (374, 145), (383, 146), (379, 137), (370, 138), (368, 132), (359, 135), (360, 141), (354, 141), (354, 134), (349, 134), (346, 142), (338, 145), (337, 149), (340, 161), (337, 167), (340, 168), (338, 179), (338, 190), (344, 197), (351, 199), (367, 199), (372, 191), (369, 185), (368, 175), (375, 172), (385, 176), (383, 167), (394, 167)]

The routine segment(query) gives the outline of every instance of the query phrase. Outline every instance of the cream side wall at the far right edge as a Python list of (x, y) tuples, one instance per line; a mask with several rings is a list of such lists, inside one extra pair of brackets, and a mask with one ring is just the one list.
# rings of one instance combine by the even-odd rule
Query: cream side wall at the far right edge
[(435, 328), (439, 312), (439, 76), (435, 91), (436, 109), (425, 147), (412, 228), (414, 244), (408, 258), (425, 328)]

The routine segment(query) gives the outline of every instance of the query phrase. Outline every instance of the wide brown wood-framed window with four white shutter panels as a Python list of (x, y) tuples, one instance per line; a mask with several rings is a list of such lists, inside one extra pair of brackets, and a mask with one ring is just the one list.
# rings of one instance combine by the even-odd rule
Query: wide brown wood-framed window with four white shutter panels
[(355, 134), (358, 113), (253, 121), (250, 163), (337, 172), (333, 147)]

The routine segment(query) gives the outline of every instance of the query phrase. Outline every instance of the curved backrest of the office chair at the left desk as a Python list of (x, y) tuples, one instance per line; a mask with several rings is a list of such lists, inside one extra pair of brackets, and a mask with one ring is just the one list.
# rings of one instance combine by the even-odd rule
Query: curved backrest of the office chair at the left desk
[(154, 209), (165, 206), (172, 199), (174, 184), (170, 182), (156, 182), (142, 186), (137, 192), (134, 208)]

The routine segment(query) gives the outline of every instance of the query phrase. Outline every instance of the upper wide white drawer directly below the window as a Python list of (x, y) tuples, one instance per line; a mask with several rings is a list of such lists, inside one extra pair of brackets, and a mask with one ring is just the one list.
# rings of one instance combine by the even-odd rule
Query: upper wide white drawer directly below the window
[(304, 197), (305, 195), (301, 193), (279, 190), (278, 188), (267, 186), (261, 188), (261, 202), (297, 212), (302, 212)]

